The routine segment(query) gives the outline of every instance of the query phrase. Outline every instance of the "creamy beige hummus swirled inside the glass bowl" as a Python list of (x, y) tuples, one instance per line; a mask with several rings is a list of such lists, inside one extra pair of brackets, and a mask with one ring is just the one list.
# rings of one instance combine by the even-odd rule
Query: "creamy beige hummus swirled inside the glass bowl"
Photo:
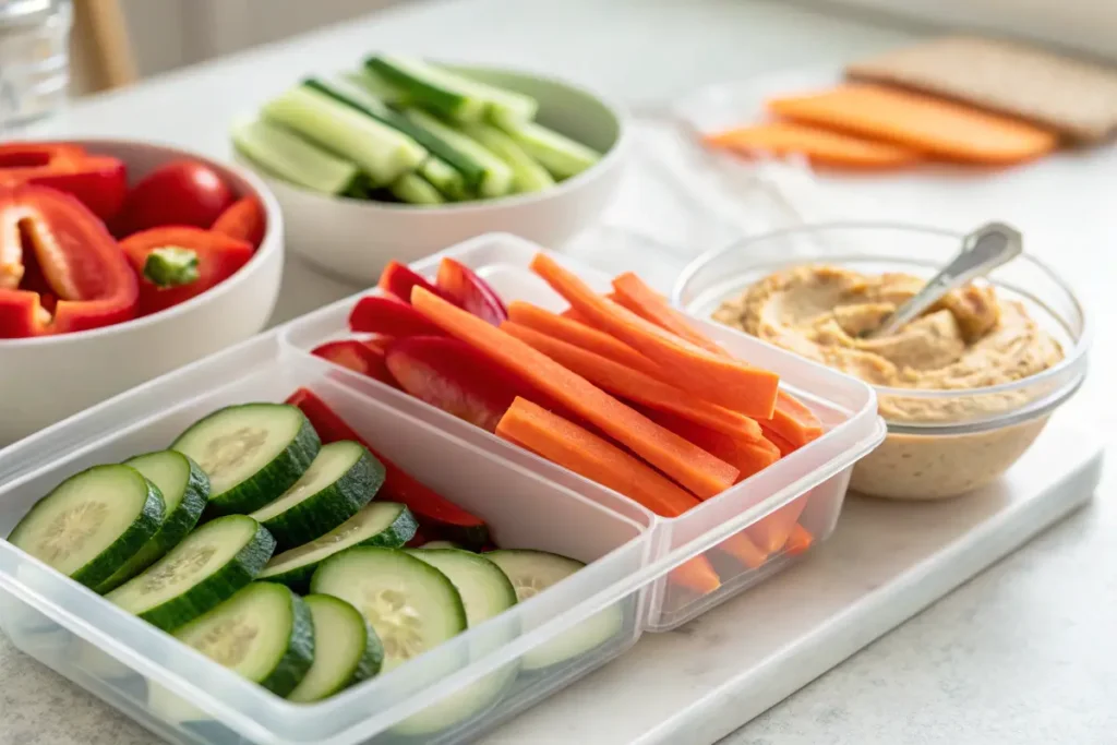
[[(1059, 342), (1022, 304), (975, 285), (948, 294), (891, 336), (865, 338), (925, 281), (905, 274), (801, 266), (765, 277), (724, 303), (714, 318), (887, 388), (986, 388), (1029, 378), (1062, 360)], [(885, 397), (881, 414), (896, 422), (942, 422), (1019, 403), (1003, 397)]]

